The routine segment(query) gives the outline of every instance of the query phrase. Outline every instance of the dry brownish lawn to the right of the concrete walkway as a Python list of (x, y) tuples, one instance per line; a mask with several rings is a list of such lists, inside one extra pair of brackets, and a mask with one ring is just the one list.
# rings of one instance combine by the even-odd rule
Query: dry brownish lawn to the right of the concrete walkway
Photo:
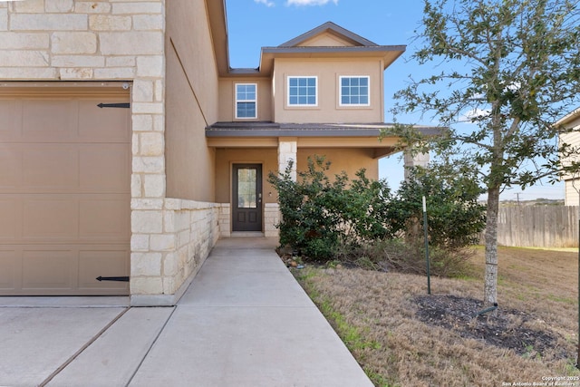
[[(428, 303), (480, 300), (483, 270), (483, 250), (478, 248), (469, 276), (431, 278)], [(427, 292), (424, 276), (320, 267), (294, 272), (375, 385), (542, 385), (537, 383), (546, 382), (546, 377), (569, 377), (569, 384), (560, 385), (580, 385), (574, 381), (580, 376), (575, 369), (574, 252), (500, 247), (498, 315), (473, 319), (469, 314), (467, 322), (448, 319), (458, 312), (451, 309), (460, 309), (461, 303), (448, 303), (439, 322), (437, 315), (433, 321), (421, 317), (425, 305), (420, 300)], [(477, 337), (475, 324), (486, 325), (490, 332), (496, 329), (495, 344)], [(476, 338), (465, 332), (475, 332)], [(536, 342), (535, 335), (544, 341)], [(502, 338), (521, 346), (506, 348)]]

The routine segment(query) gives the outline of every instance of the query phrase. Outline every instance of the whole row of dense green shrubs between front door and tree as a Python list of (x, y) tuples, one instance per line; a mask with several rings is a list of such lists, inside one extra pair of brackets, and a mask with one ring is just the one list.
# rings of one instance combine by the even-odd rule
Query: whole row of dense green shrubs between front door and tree
[(424, 274), (422, 196), (427, 198), (431, 272), (459, 276), (469, 258), (466, 249), (485, 227), (480, 189), (469, 169), (414, 169), (397, 195), (384, 181), (367, 179), (365, 170), (352, 181), (343, 172), (331, 181), (324, 157), (308, 159), (307, 169), (291, 176), (270, 173), (278, 191), (282, 220), (280, 244), (306, 259), (341, 260), (376, 270)]

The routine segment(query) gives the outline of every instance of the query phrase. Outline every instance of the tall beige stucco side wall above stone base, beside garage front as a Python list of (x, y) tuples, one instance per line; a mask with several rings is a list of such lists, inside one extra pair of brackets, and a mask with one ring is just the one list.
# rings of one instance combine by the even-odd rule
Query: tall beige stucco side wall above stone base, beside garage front
[(215, 198), (215, 151), (206, 126), (218, 121), (218, 73), (203, 0), (167, 4), (167, 196)]

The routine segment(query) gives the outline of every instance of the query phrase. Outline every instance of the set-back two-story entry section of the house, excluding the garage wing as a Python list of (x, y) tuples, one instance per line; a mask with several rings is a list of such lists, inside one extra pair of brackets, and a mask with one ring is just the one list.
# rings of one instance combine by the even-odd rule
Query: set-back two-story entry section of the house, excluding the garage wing
[[(365, 168), (378, 179), (378, 159), (394, 145), (378, 140), (383, 72), (404, 49), (326, 23), (263, 48), (257, 69), (220, 69), (218, 122), (206, 136), (216, 151), (216, 200), (231, 206), (231, 232), (275, 235), (276, 195), (265, 174), (288, 160), (304, 170), (308, 156), (325, 155), (333, 172)], [(247, 179), (256, 176), (248, 193)]]

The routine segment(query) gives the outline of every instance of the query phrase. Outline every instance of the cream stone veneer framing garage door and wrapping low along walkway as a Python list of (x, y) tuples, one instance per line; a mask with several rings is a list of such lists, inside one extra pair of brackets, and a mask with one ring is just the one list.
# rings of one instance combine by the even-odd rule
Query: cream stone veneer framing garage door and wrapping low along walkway
[(165, 198), (164, 34), (165, 0), (0, 3), (0, 82), (131, 82), (131, 303), (139, 305), (175, 303), (218, 237), (218, 207)]

